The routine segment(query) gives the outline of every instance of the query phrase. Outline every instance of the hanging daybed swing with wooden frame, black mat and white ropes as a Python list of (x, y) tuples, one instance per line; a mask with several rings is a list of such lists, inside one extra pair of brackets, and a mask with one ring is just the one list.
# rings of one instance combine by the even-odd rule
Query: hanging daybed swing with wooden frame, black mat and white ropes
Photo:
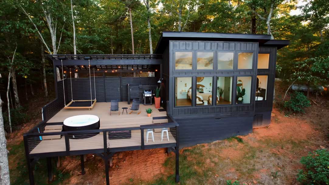
[[(90, 100), (73, 100), (72, 93), (72, 76), (71, 76), (71, 68), (70, 68), (70, 84), (71, 84), (71, 101), (66, 104), (65, 101), (65, 88), (64, 88), (64, 80), (63, 80), (63, 93), (64, 93), (64, 109), (92, 109), (96, 104), (96, 83), (95, 83), (95, 68), (94, 70), (94, 90), (95, 90), (95, 99), (92, 99), (91, 94), (91, 74), (90, 74), (90, 60), (89, 60), (89, 83), (90, 83)], [(62, 60), (62, 75), (63, 75), (63, 60)], [(63, 75), (64, 79), (64, 75)]]

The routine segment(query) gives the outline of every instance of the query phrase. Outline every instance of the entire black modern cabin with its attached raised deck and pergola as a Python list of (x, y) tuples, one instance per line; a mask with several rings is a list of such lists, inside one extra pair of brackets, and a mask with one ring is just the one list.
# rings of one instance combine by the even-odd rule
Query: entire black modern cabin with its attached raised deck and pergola
[[(246, 135), (270, 124), (277, 50), (270, 35), (163, 32), (155, 54), (49, 55), (56, 99), (24, 135), (30, 184), (47, 158), (179, 147)], [(60, 70), (61, 80), (57, 77)], [(153, 97), (160, 89), (160, 106)], [(157, 107), (156, 107), (157, 106)], [(152, 109), (151, 115), (144, 110)], [(149, 117), (150, 116), (150, 117)]]

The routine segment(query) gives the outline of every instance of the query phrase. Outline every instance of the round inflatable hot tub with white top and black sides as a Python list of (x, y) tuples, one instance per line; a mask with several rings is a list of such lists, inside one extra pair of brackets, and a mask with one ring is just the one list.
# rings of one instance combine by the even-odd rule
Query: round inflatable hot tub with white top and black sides
[[(99, 129), (99, 118), (95, 115), (79, 115), (66, 118), (63, 122), (63, 131), (83, 131)], [(98, 133), (68, 134), (70, 139), (90, 138)]]

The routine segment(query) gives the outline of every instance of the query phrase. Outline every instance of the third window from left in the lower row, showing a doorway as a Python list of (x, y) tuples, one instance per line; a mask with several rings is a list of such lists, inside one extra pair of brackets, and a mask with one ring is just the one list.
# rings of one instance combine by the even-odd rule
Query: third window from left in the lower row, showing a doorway
[(231, 104), (232, 101), (232, 77), (217, 77), (216, 105)]

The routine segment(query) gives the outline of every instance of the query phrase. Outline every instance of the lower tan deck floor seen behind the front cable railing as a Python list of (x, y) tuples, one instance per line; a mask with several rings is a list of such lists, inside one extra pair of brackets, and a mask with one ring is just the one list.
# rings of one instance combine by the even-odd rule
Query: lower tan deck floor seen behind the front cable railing
[[(154, 132), (154, 142), (150, 134), (148, 143), (146, 143), (146, 130), (144, 130), (144, 145), (175, 143), (176, 142), (175, 135), (176, 133), (172, 134), (171, 132), (169, 132), (169, 141), (168, 141), (166, 134), (164, 134), (163, 141), (161, 141), (161, 132)], [(141, 145), (140, 140), (141, 140), (140, 130), (132, 130), (131, 138), (109, 140), (109, 138), (107, 137), (107, 146), (108, 148), (140, 146)], [(86, 139), (69, 139), (69, 143), (70, 143), (70, 151), (104, 148), (102, 133)], [(65, 151), (64, 137), (62, 137), (61, 139), (42, 140), (30, 152), (30, 154), (60, 152), (60, 151)]]

